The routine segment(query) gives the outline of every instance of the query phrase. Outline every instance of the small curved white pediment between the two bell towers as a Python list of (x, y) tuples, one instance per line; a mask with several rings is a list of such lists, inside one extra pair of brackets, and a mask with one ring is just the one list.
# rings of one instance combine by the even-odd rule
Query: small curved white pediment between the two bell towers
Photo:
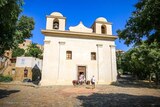
[(87, 32), (87, 33), (92, 33), (93, 32), (93, 30), (91, 28), (88, 28), (88, 27), (84, 26), (82, 22), (80, 22), (77, 26), (69, 27), (69, 31)]

